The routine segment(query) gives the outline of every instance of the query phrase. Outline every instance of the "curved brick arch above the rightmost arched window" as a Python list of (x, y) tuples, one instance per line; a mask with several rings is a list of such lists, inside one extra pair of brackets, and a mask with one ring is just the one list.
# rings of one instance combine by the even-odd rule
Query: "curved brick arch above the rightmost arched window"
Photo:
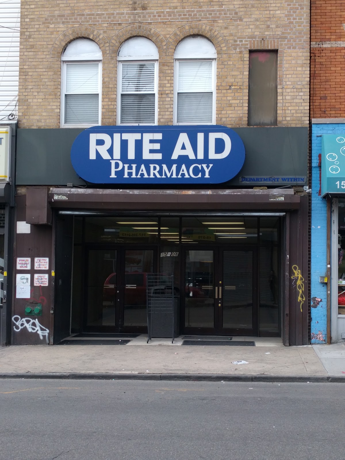
[(226, 52), (226, 42), (223, 35), (221, 35), (218, 30), (213, 29), (213, 27), (208, 26), (207, 24), (193, 23), (180, 27), (175, 30), (172, 35), (170, 35), (167, 40), (167, 55), (173, 55), (178, 43), (190, 35), (201, 35), (208, 38), (208, 40), (212, 41), (219, 56), (220, 54)]

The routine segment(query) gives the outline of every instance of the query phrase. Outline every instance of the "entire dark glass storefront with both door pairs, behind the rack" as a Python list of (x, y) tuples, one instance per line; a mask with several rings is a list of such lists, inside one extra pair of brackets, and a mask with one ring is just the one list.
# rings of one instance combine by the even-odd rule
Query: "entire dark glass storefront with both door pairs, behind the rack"
[(181, 334), (279, 336), (278, 217), (75, 218), (72, 332), (145, 333), (146, 274), (174, 275)]

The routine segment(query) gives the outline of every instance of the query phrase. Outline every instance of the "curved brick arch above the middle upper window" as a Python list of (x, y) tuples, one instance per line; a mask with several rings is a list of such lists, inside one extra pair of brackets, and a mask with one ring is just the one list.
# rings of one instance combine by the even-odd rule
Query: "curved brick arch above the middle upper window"
[(132, 37), (145, 37), (152, 40), (157, 46), (159, 56), (163, 56), (166, 48), (166, 40), (158, 30), (152, 29), (144, 24), (134, 24), (121, 29), (110, 41), (110, 55), (117, 56), (117, 52), (122, 43)]

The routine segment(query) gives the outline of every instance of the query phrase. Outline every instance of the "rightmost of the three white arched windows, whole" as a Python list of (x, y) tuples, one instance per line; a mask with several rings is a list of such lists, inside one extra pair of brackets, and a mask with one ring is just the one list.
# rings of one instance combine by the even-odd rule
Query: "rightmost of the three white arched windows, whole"
[(214, 124), (216, 48), (193, 35), (180, 41), (174, 59), (174, 124)]

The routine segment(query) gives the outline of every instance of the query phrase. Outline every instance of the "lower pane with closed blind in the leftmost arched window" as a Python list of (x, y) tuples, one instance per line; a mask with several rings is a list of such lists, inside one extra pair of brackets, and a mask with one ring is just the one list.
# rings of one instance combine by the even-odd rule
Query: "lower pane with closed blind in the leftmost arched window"
[(98, 94), (66, 94), (65, 123), (98, 125)]

